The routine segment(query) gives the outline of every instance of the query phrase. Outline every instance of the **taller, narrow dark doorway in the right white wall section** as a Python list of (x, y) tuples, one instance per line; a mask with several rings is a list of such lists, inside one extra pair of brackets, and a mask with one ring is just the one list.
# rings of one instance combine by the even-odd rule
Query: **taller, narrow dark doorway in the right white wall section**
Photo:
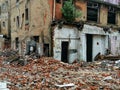
[(87, 44), (87, 62), (92, 62), (92, 43), (93, 43), (93, 38), (92, 38), (93, 36), (91, 35), (91, 34), (87, 34), (86, 35), (86, 38), (87, 38), (87, 42), (86, 42), (86, 44)]

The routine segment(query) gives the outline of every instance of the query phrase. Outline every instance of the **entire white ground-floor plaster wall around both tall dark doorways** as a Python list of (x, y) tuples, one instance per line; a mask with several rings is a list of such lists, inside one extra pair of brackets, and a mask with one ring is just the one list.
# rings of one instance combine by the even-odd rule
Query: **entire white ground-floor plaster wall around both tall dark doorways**
[[(86, 35), (91, 34), (93, 36), (92, 43), (92, 60), (100, 52), (105, 54), (105, 50), (108, 48), (108, 33), (105, 33), (102, 28), (97, 26), (84, 25), (82, 31), (78, 31), (75, 27), (64, 26), (62, 29), (55, 28), (54, 31), (54, 58), (61, 60), (62, 53), (62, 41), (69, 42), (69, 50), (76, 49), (77, 53), (69, 53), (69, 63), (74, 60), (87, 61), (87, 38)], [(72, 38), (80, 38), (79, 40), (72, 40)], [(99, 43), (99, 44), (97, 44)]]

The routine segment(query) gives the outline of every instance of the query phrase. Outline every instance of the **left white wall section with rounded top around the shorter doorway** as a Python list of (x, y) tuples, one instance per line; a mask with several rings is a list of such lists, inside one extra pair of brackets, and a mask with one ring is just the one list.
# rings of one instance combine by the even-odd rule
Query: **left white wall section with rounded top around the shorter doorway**
[(69, 49), (77, 49), (77, 53), (69, 53), (68, 59), (69, 63), (72, 63), (75, 59), (79, 59), (79, 50), (78, 50), (78, 44), (79, 40), (74, 40), (73, 38), (79, 38), (79, 33), (76, 28), (73, 27), (62, 27), (62, 29), (55, 28), (54, 31), (54, 58), (57, 60), (61, 60), (61, 43), (62, 41), (68, 41), (69, 42)]

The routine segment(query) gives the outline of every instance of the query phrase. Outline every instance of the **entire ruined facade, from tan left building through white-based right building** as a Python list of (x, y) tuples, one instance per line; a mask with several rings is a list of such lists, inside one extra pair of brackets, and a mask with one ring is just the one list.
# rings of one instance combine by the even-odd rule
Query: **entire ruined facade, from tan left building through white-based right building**
[(11, 32), (11, 48), (18, 49), (20, 54), (29, 54), (34, 48), (41, 56), (53, 55), (68, 63), (94, 61), (98, 53), (105, 55), (107, 50), (113, 55), (120, 54), (118, 0), (74, 0), (82, 16), (73, 25), (62, 21), (61, 8), (66, 0), (6, 1), (9, 1), (10, 22), (6, 26), (10, 26), (7, 31)]

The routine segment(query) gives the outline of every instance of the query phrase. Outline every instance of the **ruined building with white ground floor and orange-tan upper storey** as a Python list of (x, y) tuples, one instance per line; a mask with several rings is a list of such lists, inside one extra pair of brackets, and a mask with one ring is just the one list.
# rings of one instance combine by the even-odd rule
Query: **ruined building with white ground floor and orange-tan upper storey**
[(53, 1), (53, 57), (63, 62), (94, 61), (110, 50), (120, 55), (119, 0), (73, 0), (82, 16), (71, 24), (64, 21), (61, 8), (67, 0)]

